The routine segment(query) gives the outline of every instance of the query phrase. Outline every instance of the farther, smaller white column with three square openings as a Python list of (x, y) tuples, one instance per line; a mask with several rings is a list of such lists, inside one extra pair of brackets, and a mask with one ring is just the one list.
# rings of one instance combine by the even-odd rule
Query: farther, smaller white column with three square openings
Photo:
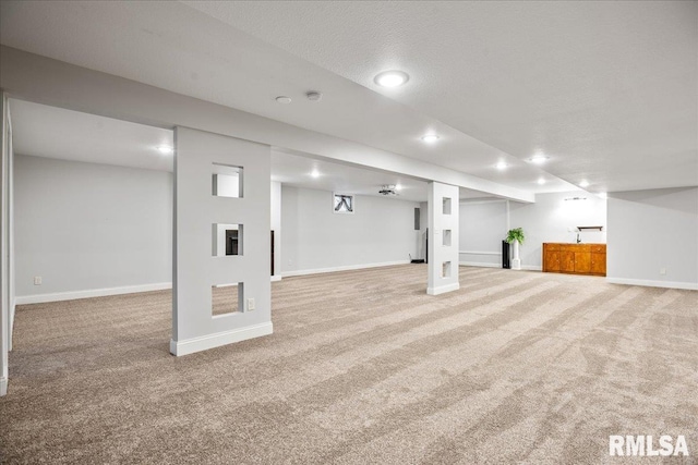
[(458, 283), (458, 187), (429, 183), (429, 284), (426, 293), (438, 295), (460, 287)]

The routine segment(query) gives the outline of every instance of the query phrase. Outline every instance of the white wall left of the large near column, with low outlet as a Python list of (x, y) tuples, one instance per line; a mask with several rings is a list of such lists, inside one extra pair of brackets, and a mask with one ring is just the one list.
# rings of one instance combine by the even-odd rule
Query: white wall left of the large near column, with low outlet
[(19, 301), (171, 282), (171, 173), (27, 156), (14, 169)]

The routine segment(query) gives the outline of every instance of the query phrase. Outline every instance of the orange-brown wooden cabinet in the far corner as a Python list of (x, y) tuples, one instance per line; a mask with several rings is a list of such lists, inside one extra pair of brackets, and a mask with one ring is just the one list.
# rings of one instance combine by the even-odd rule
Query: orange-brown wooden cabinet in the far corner
[(543, 271), (606, 276), (605, 244), (543, 244)]

